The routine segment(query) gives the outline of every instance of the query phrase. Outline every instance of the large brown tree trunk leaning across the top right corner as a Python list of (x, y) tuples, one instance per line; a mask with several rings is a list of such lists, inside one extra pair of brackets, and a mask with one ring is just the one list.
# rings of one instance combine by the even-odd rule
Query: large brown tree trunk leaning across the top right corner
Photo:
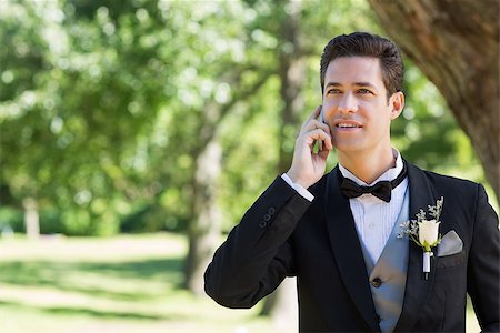
[(499, 2), (369, 0), (447, 100), (500, 203)]

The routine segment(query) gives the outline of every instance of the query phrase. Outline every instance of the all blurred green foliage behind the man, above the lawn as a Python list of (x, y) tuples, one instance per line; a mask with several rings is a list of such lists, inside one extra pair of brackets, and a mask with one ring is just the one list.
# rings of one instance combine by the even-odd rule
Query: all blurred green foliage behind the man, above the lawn
[[(293, 10), (300, 48), (278, 24)], [(278, 50), (304, 54), (306, 118), (321, 103), (324, 43), (383, 33), (362, 0), (1, 1), (0, 22), (0, 224), (22, 230), (22, 200), (36, 198), (42, 232), (72, 235), (186, 230), (209, 140), (223, 149), (218, 203), (229, 229), (278, 175), (279, 145), (291, 152), (299, 130), (279, 142)], [(407, 68), (396, 147), (483, 181), (436, 88)]]

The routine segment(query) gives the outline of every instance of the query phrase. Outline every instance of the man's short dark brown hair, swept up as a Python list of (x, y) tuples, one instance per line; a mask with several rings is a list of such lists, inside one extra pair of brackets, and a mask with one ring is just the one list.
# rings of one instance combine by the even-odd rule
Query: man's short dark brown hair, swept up
[(340, 57), (378, 58), (388, 100), (394, 92), (402, 91), (404, 64), (398, 47), (389, 39), (373, 33), (353, 32), (337, 36), (324, 47), (320, 61), (322, 92), (324, 89), (327, 68), (331, 61)]

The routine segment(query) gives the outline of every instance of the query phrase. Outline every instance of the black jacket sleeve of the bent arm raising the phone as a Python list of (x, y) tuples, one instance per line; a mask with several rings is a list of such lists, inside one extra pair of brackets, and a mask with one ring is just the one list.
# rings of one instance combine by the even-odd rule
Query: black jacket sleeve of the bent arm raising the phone
[(261, 194), (216, 251), (204, 289), (227, 307), (251, 307), (293, 275), (288, 239), (310, 206), (280, 176)]

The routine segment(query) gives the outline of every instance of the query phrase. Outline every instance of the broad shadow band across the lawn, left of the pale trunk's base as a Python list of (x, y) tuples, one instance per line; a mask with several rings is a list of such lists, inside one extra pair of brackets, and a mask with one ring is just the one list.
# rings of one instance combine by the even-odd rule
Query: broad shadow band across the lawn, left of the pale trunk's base
[[(74, 276), (94, 274), (103, 279), (114, 279), (117, 284), (148, 283), (154, 281), (163, 284), (166, 290), (177, 290), (182, 283), (182, 259), (138, 260), (112, 263), (78, 262), (63, 263), (58, 261), (7, 261), (0, 262), (0, 282), (12, 285), (50, 286), (60, 291), (81, 292), (101, 297), (118, 300), (146, 300), (158, 297), (160, 293), (108, 290), (99, 283), (79, 285)], [(81, 280), (80, 280), (81, 281)], [(97, 286), (96, 286), (97, 285)]]

